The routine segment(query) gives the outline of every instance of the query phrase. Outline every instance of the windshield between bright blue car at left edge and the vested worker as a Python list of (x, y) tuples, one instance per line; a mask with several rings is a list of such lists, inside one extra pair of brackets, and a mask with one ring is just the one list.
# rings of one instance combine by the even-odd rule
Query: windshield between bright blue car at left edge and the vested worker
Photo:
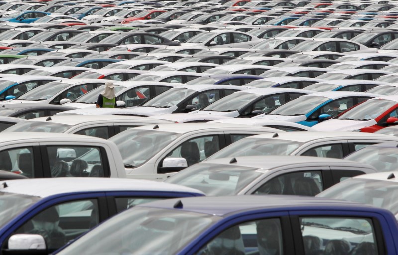
[(18, 100), (31, 100), (31, 101), (40, 101), (46, 100), (58, 92), (70, 86), (68, 83), (61, 83), (61, 82), (50, 82), (41, 86), (32, 89), (25, 94), (21, 95)]

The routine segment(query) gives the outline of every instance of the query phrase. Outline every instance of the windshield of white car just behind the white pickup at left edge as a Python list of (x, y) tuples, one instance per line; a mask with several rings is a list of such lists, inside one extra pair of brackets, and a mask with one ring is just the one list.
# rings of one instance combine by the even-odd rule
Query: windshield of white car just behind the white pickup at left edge
[(41, 121), (24, 121), (5, 129), (3, 132), (50, 132), (64, 133), (71, 128), (70, 125), (49, 123)]

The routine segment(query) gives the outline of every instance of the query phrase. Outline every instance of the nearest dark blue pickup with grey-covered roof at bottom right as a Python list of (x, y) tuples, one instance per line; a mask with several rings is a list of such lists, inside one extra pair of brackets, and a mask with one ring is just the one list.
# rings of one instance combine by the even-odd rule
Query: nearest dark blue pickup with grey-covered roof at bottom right
[(397, 235), (394, 215), (369, 205), (293, 196), (195, 197), (136, 206), (55, 254), (397, 255)]

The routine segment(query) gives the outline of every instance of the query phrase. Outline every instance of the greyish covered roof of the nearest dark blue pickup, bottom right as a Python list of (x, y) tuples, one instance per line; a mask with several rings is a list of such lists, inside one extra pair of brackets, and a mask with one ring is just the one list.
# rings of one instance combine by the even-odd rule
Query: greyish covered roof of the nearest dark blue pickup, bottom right
[[(182, 207), (175, 208), (177, 202), (181, 202)], [(180, 211), (190, 211), (217, 216), (228, 216), (229, 214), (242, 213), (260, 208), (269, 208), (272, 210), (283, 209), (316, 209), (316, 208), (353, 208), (361, 210), (385, 211), (370, 205), (357, 204), (343, 200), (325, 199), (319, 197), (301, 197), (301, 196), (213, 196), (196, 198), (177, 198), (155, 201), (148, 204), (138, 205), (137, 207), (151, 207), (174, 209)]]

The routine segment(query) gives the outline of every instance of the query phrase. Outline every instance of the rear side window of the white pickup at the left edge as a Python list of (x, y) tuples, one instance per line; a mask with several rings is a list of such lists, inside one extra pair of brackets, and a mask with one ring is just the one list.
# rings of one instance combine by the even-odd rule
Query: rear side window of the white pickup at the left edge
[(107, 177), (99, 147), (47, 146), (51, 177)]

